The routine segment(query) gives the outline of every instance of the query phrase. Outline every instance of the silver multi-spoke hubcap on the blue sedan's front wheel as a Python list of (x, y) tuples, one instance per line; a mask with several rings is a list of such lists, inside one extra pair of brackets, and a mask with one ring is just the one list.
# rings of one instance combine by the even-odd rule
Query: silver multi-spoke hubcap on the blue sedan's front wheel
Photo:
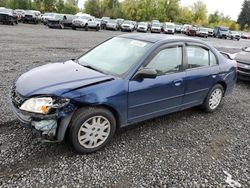
[(104, 116), (93, 116), (80, 127), (78, 141), (85, 148), (96, 148), (108, 138), (110, 127), (109, 120)]

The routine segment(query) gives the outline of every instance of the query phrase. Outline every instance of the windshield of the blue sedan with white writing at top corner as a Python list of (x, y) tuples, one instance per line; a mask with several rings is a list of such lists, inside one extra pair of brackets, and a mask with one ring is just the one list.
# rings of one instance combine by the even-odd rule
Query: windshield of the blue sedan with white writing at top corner
[(122, 76), (143, 57), (151, 45), (148, 42), (115, 37), (89, 51), (78, 61), (83, 66)]

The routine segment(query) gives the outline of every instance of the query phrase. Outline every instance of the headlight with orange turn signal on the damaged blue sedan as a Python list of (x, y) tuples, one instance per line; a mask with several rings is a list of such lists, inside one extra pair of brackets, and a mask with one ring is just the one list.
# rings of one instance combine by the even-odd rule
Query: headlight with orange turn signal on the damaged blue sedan
[(20, 107), (21, 110), (47, 114), (53, 106), (53, 99), (51, 97), (31, 98), (25, 101)]

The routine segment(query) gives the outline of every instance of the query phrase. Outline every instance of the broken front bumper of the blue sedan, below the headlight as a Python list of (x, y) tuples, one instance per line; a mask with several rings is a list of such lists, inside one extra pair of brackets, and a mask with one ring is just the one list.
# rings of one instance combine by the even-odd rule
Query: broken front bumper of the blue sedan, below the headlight
[(25, 128), (32, 129), (35, 137), (44, 142), (61, 142), (75, 110), (74, 105), (56, 109), (52, 114), (37, 114), (20, 110), (11, 102), (12, 110)]

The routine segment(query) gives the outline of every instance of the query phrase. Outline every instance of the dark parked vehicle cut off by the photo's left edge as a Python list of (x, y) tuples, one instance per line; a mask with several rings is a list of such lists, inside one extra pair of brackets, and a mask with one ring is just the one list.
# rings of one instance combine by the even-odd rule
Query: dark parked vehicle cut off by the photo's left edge
[(17, 24), (17, 15), (12, 9), (1, 8), (0, 9), (0, 23), (2, 24)]

